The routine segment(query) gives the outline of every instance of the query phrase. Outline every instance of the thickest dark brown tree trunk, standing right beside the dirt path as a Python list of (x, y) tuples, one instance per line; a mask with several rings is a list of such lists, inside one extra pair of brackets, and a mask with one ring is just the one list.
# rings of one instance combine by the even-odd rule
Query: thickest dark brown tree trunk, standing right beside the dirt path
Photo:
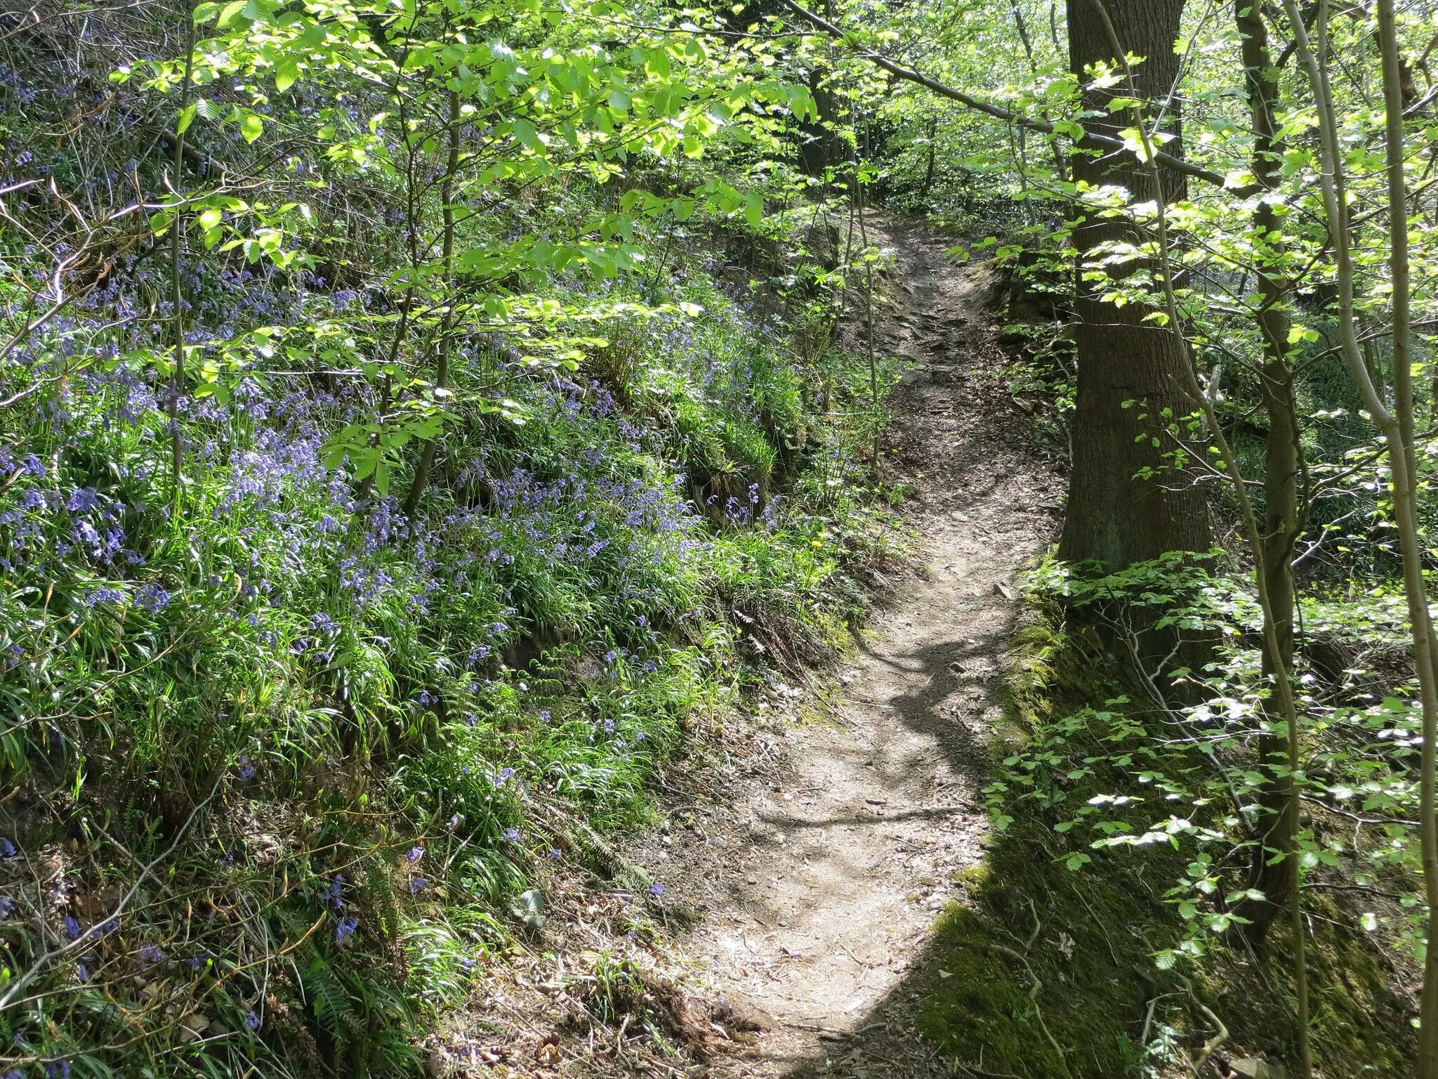
[[(1103, 0), (1103, 4), (1123, 49), (1143, 58), (1135, 70), (1139, 96), (1162, 108), (1178, 78), (1173, 42), (1183, 0)], [(1107, 62), (1122, 68), (1104, 24), (1104, 9), (1097, 0), (1068, 0), (1068, 62), (1084, 82), (1087, 65)], [(1104, 109), (1112, 98), (1125, 92), (1119, 85), (1084, 89), (1083, 108)], [(1178, 115), (1172, 105), (1166, 114), (1172, 121), (1165, 129), (1175, 140), (1165, 150), (1178, 154)], [(1090, 117), (1084, 127), (1117, 137), (1135, 122), (1133, 112), (1123, 111)], [(1132, 201), (1158, 194), (1149, 190), (1152, 183), (1135, 155), (1094, 155), (1083, 150), (1080, 144), (1073, 158), (1076, 181), (1094, 187), (1120, 186)], [(1183, 197), (1183, 180), (1172, 170), (1165, 173), (1163, 184), (1166, 200)], [(1145, 239), (1122, 217), (1090, 214), (1074, 232), (1080, 260), (1100, 243)], [(1137, 268), (1135, 263), (1116, 273)], [(1206, 551), (1211, 542), (1204, 492), (1192, 469), (1165, 456), (1181, 449), (1166, 430), (1171, 417), (1186, 417), (1196, 407), (1183, 388), (1188, 361), (1182, 345), (1171, 329), (1143, 321), (1153, 308), (1117, 308), (1102, 302), (1100, 295), (1102, 288), (1080, 283), (1074, 327), (1078, 396), (1071, 427), (1073, 473), (1060, 554), (1068, 561), (1093, 560), (1106, 570), (1120, 570), (1166, 551)]]

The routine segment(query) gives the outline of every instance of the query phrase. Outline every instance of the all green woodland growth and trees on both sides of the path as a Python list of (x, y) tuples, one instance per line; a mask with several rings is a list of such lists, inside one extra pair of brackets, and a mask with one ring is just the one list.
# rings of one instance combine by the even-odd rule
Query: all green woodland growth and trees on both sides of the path
[(1011, 279), (1070, 469), (928, 1033), (1438, 1079), (1435, 22), (6, 9), (3, 1066), (418, 1069), (902, 555), (884, 201)]

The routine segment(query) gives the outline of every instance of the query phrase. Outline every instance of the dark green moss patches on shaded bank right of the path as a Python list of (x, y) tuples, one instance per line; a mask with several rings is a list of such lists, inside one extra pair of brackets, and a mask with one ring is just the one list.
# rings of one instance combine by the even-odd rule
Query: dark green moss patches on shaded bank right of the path
[[(1112, 706), (1122, 692), (1102, 652), (1064, 637), (1055, 624), (1040, 613), (1015, 634), (995, 751), (1014, 752), (1048, 724), (1089, 702)], [(1004, 771), (997, 760), (992, 771), (995, 778)], [(1091, 777), (1063, 798), (1081, 804), (1112, 781)], [(1219, 1056), (1293, 1060), (1286, 924), (1274, 927), (1264, 955), (1218, 942), (1181, 970), (1159, 970), (1153, 954), (1182, 934), (1163, 893), (1189, 855), (1169, 846), (1090, 852), (1087, 842), (1054, 830), (1067, 813), (1050, 819), (1020, 793), (1007, 794), (1001, 809), (1012, 823), (991, 833), (981, 865), (955, 875), (966, 901), (939, 921), (923, 964), (917, 1019), (928, 1039), (991, 1075), (1113, 1079), (1145, 1066), (1185, 1067), (1183, 1057), (1192, 1062), (1215, 1032), (1206, 1007), (1228, 1029)], [(1093, 860), (1070, 870), (1064, 856), (1073, 850)], [(1393, 964), (1349, 928), (1352, 912), (1334, 899), (1306, 903), (1313, 915), (1311, 1037), (1322, 1073), (1411, 1073), (1411, 998)]]

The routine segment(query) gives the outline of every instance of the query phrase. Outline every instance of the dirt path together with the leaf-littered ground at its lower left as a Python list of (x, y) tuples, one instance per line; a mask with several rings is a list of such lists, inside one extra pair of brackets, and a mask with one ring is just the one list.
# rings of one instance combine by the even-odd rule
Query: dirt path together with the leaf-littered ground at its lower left
[[(1009, 393), (991, 272), (953, 265), (951, 240), (920, 223), (870, 211), (866, 226), (887, 256), (876, 351), (910, 361), (881, 449), (886, 481), (909, 492), (913, 558), (880, 587), (837, 676), (769, 685), (707, 765), (664, 777), (664, 824), (614, 855), (663, 885), (657, 901), (562, 862), (541, 870), (551, 928), (439, 1036), (430, 1075), (975, 1073), (939, 1059), (915, 1023), (951, 977), (935, 922), (968, 902), (984, 857), (1014, 578), (1053, 540), (1063, 481)], [(846, 338), (864, 347), (861, 327)], [(626, 934), (637, 902), (667, 945)], [(637, 1001), (624, 971), (656, 960)], [(623, 1023), (595, 1026), (595, 1011)], [(631, 1030), (637, 1011), (684, 1050), (663, 1052), (651, 1020)]]

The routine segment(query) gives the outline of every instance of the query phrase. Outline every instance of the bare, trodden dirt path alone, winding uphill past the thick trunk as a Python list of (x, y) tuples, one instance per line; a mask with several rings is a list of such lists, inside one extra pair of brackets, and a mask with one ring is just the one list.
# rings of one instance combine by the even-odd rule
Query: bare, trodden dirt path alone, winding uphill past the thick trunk
[(647, 852), (700, 898), (684, 942), (700, 977), (772, 1027), (710, 1062), (716, 1079), (951, 1073), (915, 1033), (940, 977), (926, 944), (981, 860), (1011, 583), (1057, 524), (1061, 482), (1001, 377), (991, 276), (952, 265), (922, 224), (866, 224), (892, 259), (876, 347), (915, 364), (884, 452), (915, 489), (920, 565), (892, 583), (830, 706), (797, 709), (758, 780)]

